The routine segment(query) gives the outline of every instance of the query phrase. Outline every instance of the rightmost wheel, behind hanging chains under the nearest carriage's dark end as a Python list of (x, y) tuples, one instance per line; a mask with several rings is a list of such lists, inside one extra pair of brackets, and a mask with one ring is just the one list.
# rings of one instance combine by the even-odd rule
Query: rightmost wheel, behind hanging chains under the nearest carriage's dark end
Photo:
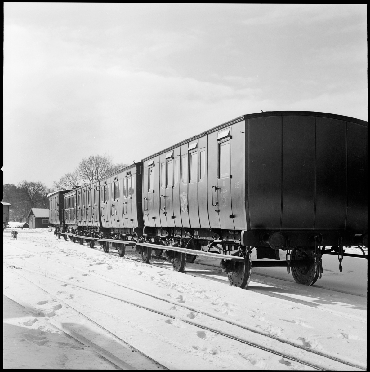
[(318, 280), (315, 265), (315, 255), (309, 248), (294, 248), (291, 253), (291, 260), (306, 260), (310, 263), (306, 266), (290, 267), (293, 278), (298, 284), (313, 285)]

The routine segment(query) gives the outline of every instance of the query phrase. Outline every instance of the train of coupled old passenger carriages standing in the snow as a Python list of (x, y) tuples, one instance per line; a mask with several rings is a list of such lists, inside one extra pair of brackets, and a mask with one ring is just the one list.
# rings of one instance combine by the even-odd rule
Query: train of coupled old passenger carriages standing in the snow
[(367, 122), (318, 112), (244, 115), (64, 196), (65, 228), (76, 226), (92, 247), (112, 243), (123, 256), (135, 244), (147, 263), (153, 249), (164, 250), (180, 272), (197, 255), (217, 257), (242, 288), (252, 248), (274, 260), (264, 266), (283, 266), (283, 250), (296, 282), (312, 285), (324, 254), (338, 254), (341, 270), (345, 246), (367, 247)]

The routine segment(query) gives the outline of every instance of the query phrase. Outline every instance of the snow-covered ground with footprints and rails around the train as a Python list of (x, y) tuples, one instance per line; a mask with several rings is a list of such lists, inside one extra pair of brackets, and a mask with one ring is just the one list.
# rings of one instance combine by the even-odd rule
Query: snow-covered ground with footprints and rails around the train
[(132, 248), (17, 231), (3, 233), (4, 368), (366, 370), (365, 259), (339, 273), (324, 256), (312, 287), (258, 267), (243, 290), (217, 260), (185, 275)]

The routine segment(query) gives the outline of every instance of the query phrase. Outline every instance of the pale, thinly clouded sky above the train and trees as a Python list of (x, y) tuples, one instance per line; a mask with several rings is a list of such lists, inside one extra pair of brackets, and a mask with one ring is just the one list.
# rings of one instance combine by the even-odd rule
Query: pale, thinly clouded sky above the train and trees
[(237, 116), (367, 120), (366, 5), (4, 4), (3, 183), (132, 163)]

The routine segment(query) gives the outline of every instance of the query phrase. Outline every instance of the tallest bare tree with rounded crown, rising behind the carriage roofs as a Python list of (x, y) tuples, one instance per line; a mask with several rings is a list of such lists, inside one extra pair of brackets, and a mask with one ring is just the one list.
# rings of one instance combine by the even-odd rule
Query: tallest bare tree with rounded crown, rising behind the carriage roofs
[(91, 155), (82, 159), (75, 172), (84, 183), (88, 183), (122, 169), (124, 166), (126, 166), (124, 163), (113, 164), (109, 154)]

